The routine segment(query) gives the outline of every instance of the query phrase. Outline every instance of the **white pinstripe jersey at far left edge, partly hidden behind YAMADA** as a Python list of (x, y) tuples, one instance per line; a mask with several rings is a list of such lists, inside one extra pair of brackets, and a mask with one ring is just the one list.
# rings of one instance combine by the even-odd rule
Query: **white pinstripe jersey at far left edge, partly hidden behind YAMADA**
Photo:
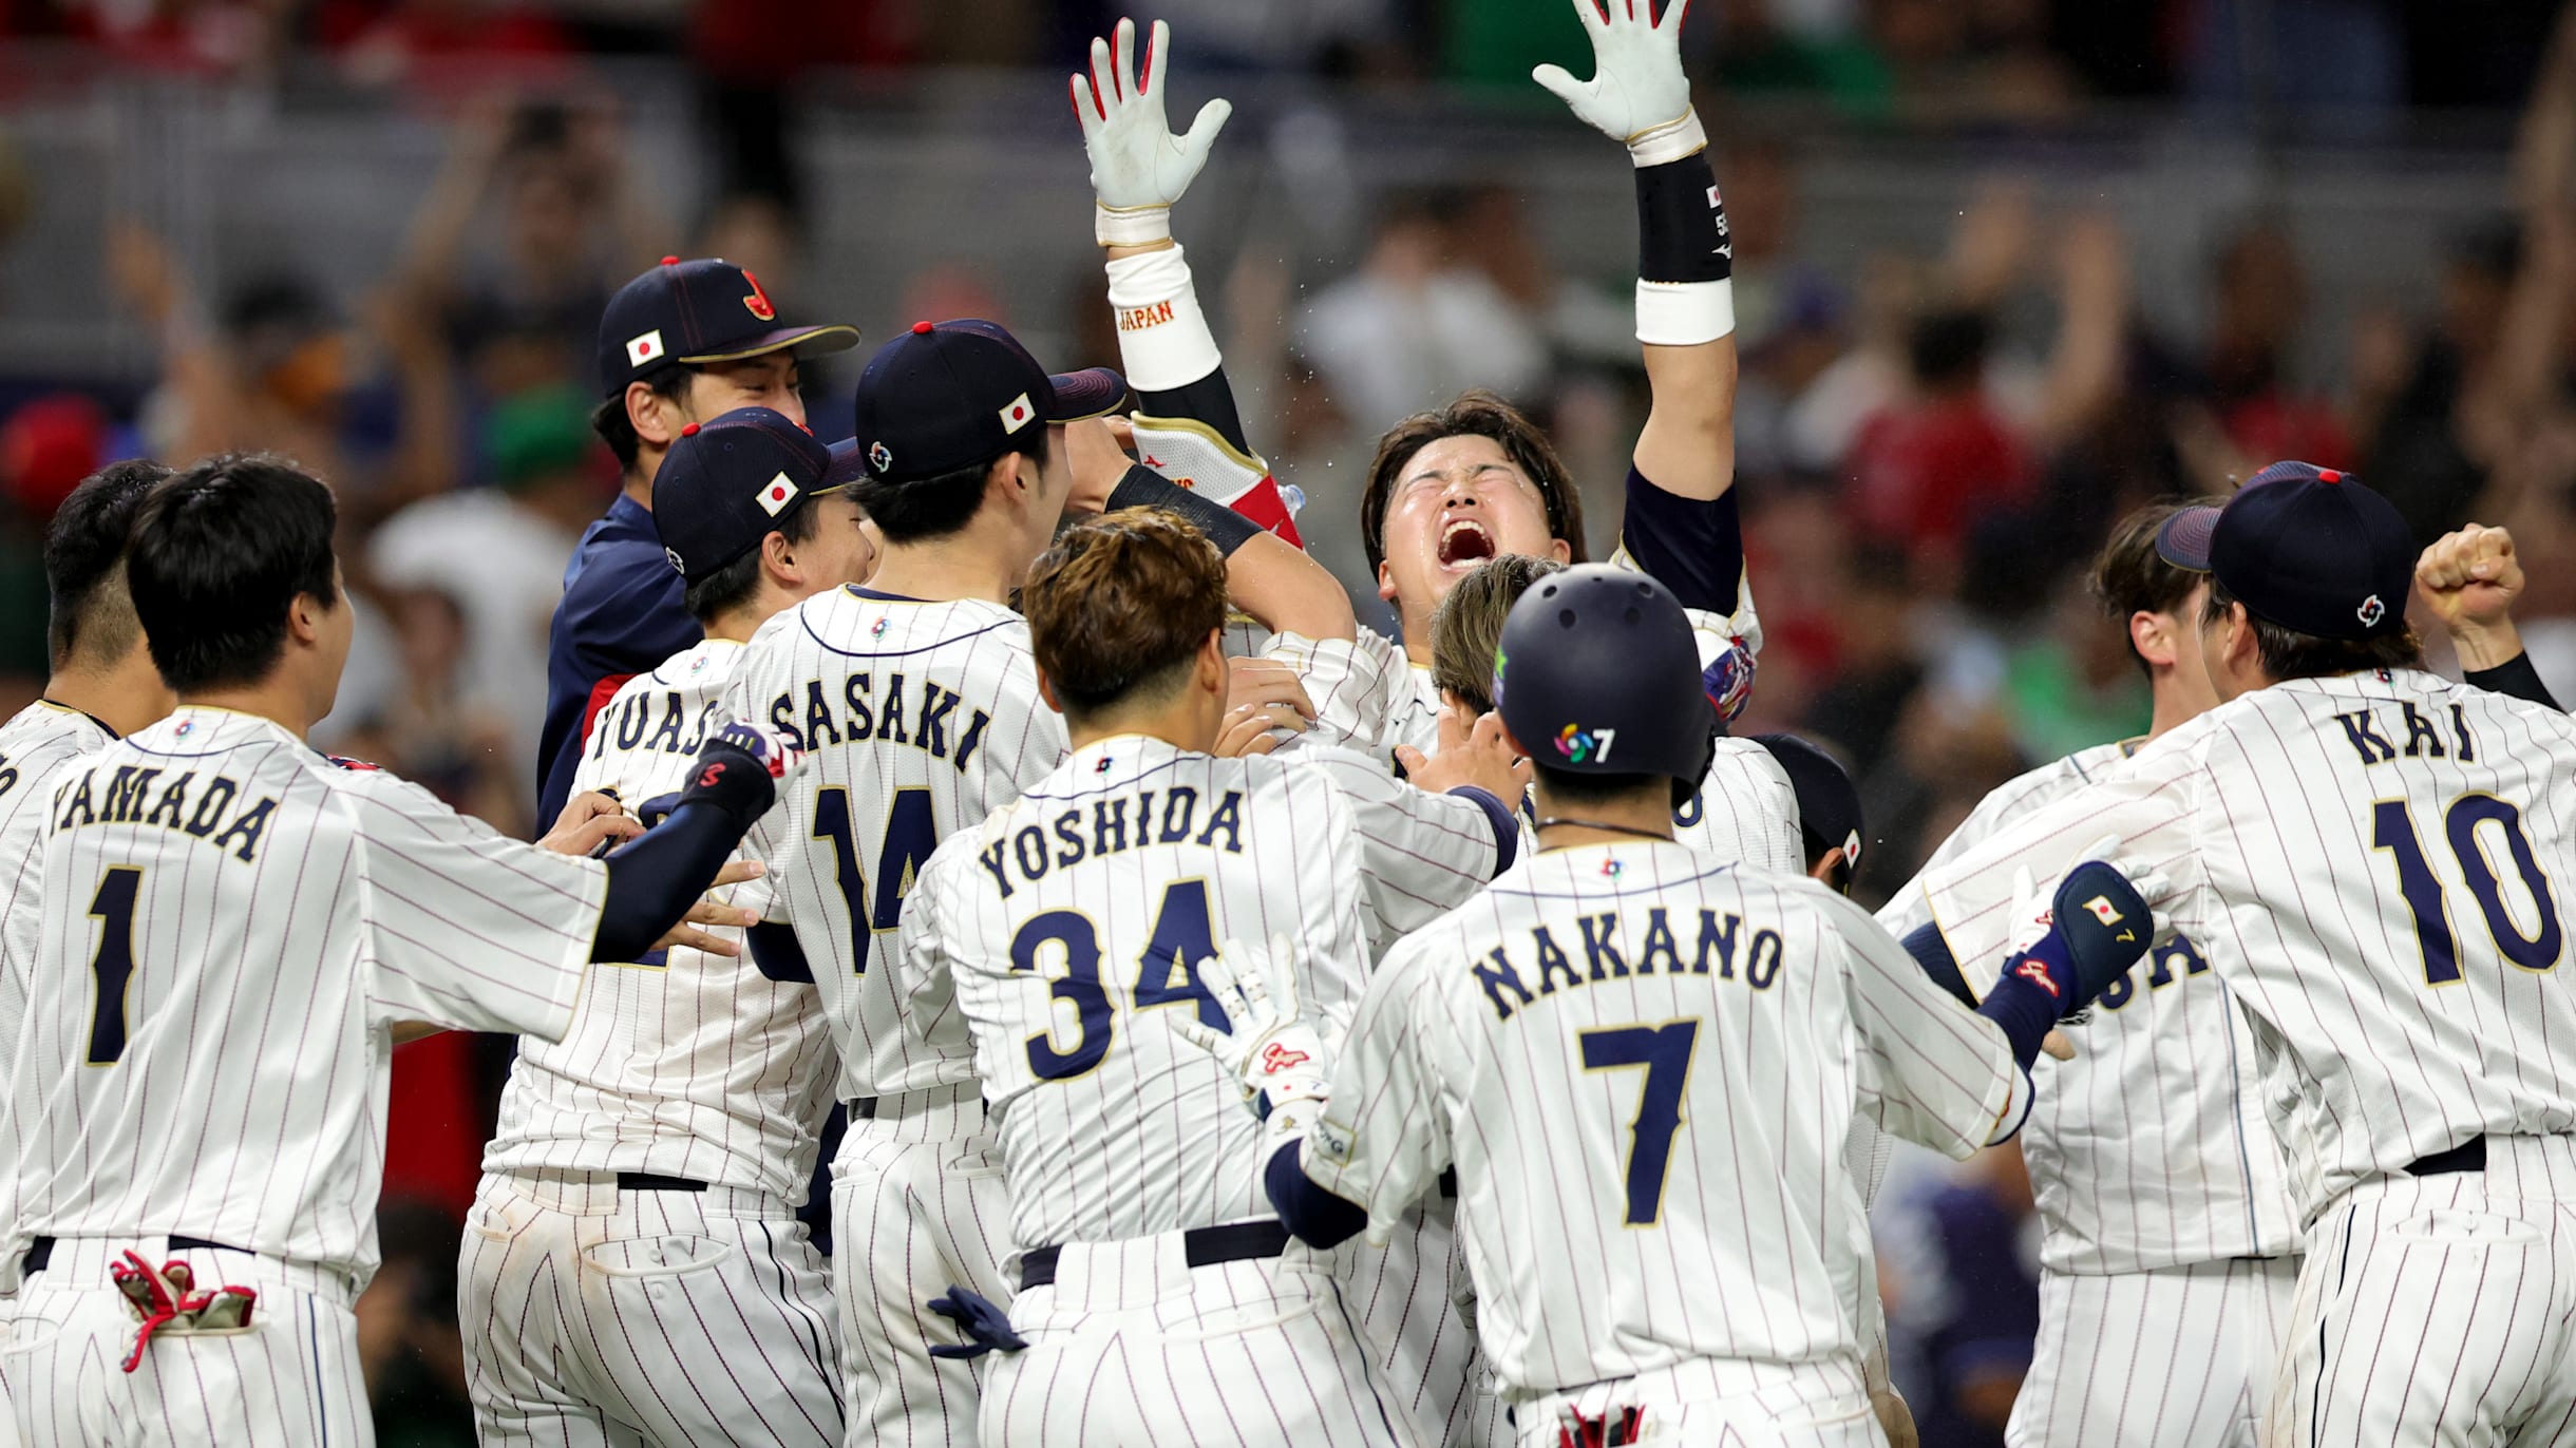
[[(54, 776), (116, 732), (77, 709), (36, 701), (0, 724), (0, 1082), (18, 1064), (18, 1023), (26, 1020), (26, 971), (33, 969), (44, 920), (44, 822)], [(18, 1159), (18, 1123), (41, 1110), (41, 1098), (13, 1098), (0, 1110), (0, 1167)], [(0, 1172), (0, 1193), (8, 1190)], [(0, 1226), (10, 1219), (0, 1203)], [(0, 1244), (0, 1252), (10, 1247)]]

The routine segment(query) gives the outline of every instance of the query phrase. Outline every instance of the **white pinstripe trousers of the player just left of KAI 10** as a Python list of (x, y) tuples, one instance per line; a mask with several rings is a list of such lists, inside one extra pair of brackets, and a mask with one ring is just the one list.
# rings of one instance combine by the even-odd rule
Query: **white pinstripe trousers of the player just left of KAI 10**
[[(2038, 1116), (2038, 1113), (2032, 1113)], [(2040, 1340), (2012, 1448), (2254, 1448), (2298, 1257), (2040, 1273)], [(2117, 1350), (2107, 1350), (2117, 1342)]]

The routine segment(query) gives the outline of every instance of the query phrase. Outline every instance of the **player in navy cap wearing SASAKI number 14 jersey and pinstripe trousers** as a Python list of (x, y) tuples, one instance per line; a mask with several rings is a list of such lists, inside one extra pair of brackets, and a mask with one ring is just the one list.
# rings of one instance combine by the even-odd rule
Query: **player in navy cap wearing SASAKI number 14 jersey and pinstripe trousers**
[(1007, 598), (1066, 510), (1164, 505), (1226, 551), (1234, 600), (1270, 629), (1347, 636), (1350, 600), (1244, 515), (1131, 469), (1097, 417), (1110, 371), (1048, 376), (992, 322), (920, 322), (858, 384), (855, 484), (886, 546), (866, 587), (773, 618), (726, 711), (814, 750), (752, 837), (768, 920), (793, 925), (842, 1059), (850, 1134), (832, 1162), (832, 1283), (850, 1443), (974, 1435), (971, 1363), (930, 1358), (948, 1283), (1007, 1299), (1007, 1203), (951, 982), (894, 958), (933, 848), (1051, 773), (1064, 721), (1038, 698)]

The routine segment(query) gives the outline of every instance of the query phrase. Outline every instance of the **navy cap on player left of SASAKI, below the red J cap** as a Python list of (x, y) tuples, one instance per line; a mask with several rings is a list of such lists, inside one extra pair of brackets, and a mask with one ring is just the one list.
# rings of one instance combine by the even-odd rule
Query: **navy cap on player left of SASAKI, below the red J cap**
[(832, 451), (786, 412), (734, 407), (690, 423), (652, 479), (662, 557), (698, 582), (760, 546), (791, 513), (850, 484)]

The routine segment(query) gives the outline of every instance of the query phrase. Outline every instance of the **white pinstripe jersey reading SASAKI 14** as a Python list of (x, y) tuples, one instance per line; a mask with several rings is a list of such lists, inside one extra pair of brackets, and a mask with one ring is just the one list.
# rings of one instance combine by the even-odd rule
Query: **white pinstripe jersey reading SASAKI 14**
[(837, 587), (752, 636), (724, 693), (814, 752), (752, 830), (768, 920), (796, 925), (840, 1046), (840, 1098), (974, 1080), (945, 976), (904, 982), (894, 930), (930, 853), (1064, 760), (1028, 624), (999, 603)]

